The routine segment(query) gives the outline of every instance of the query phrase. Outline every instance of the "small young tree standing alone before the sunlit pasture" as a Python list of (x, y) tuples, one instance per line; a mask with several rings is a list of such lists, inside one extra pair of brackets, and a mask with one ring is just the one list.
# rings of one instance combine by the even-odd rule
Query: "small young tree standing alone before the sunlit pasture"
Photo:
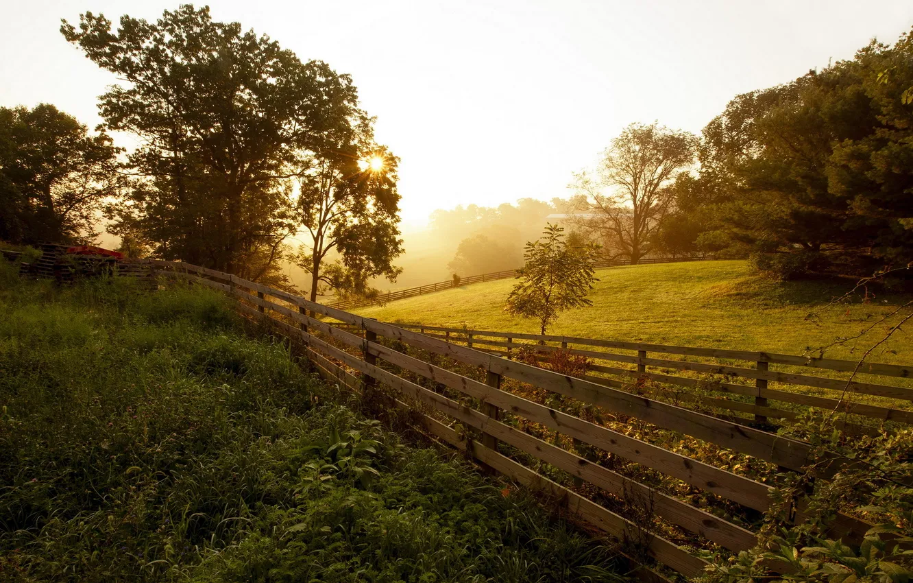
[(572, 247), (564, 240), (564, 229), (548, 224), (542, 237), (526, 244), (525, 264), (508, 295), (505, 310), (524, 318), (539, 320), (540, 334), (562, 312), (593, 305), (586, 294), (593, 289), (593, 244)]

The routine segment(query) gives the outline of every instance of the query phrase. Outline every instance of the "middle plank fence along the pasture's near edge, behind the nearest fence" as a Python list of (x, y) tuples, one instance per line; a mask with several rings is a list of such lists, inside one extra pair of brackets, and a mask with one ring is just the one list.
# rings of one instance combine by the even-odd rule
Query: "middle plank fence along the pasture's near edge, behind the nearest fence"
[[(651, 345), (617, 342), (574, 336), (521, 334), (448, 328), (421, 324), (397, 324), (409, 330), (418, 330), (448, 342), (473, 346), (491, 354), (510, 357), (517, 350), (533, 350), (548, 354), (559, 349), (572, 355), (585, 356), (593, 363), (590, 371), (604, 376), (586, 375), (583, 378), (608, 387), (626, 390), (653, 391), (666, 398), (698, 403), (708, 408), (738, 411), (754, 416), (757, 422), (771, 419), (795, 419), (796, 410), (771, 406), (771, 401), (799, 405), (802, 408), (821, 408), (840, 416), (844, 429), (871, 432), (866, 425), (855, 423), (859, 418), (877, 419), (913, 424), (913, 388), (891, 385), (892, 381), (913, 376), (913, 366), (862, 363), (851, 360), (816, 358), (805, 355), (780, 355), (748, 350), (724, 350), (696, 346)], [(526, 341), (526, 342), (522, 342)], [(530, 344), (532, 343), (532, 344)], [(610, 350), (607, 350), (610, 349)], [(625, 354), (627, 353), (627, 354)], [(652, 355), (651, 355), (652, 353)], [(656, 354), (662, 357), (656, 357)], [(678, 358), (669, 355), (678, 356)], [(611, 366), (596, 364), (609, 363)], [(783, 370), (771, 368), (780, 366)], [(844, 375), (810, 376), (806, 370), (824, 370)], [(800, 372), (801, 371), (801, 372)], [(705, 378), (682, 376), (677, 373), (695, 373)], [(708, 380), (706, 376), (713, 376)], [(643, 383), (635, 388), (638, 379), (656, 382), (653, 387)], [(729, 382), (746, 379), (747, 385)], [(863, 380), (865, 379), (865, 380)], [(779, 388), (771, 388), (771, 384)], [(687, 387), (687, 391), (669, 390), (664, 385)], [(814, 392), (831, 394), (831, 397), (797, 392), (799, 387), (811, 387)], [(693, 389), (700, 389), (695, 391)], [(799, 389), (803, 390), (803, 389)], [(708, 396), (719, 393), (728, 398)], [(860, 395), (876, 397), (888, 406), (857, 402)], [(752, 398), (733, 400), (729, 397)], [(890, 405), (893, 405), (891, 407)], [(799, 411), (803, 410), (802, 408)], [(871, 424), (868, 424), (871, 425)]]

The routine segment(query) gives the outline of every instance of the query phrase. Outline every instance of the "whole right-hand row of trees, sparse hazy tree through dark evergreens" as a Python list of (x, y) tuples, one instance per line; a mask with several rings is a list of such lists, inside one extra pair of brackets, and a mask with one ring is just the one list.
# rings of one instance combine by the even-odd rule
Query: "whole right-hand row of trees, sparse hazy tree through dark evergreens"
[(737, 96), (701, 135), (629, 126), (577, 175), (610, 254), (750, 257), (782, 277), (913, 260), (913, 37)]

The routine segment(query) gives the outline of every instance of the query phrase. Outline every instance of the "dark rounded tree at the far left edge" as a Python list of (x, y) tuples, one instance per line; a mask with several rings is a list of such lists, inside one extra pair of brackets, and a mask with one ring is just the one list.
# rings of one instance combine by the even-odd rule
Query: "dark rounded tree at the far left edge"
[(41, 103), (0, 108), (0, 238), (14, 243), (94, 238), (102, 201), (123, 178), (105, 133)]

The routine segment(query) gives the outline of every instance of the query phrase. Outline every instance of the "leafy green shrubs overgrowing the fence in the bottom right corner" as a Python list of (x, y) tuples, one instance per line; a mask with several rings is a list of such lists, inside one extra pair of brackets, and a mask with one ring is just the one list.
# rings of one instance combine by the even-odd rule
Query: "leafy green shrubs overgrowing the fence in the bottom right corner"
[[(785, 580), (906, 583), (913, 577), (913, 551), (908, 550), (913, 543), (913, 488), (908, 485), (913, 480), (913, 430), (847, 439), (835, 421), (810, 414), (782, 431), (815, 446), (807, 473), (782, 476), (784, 485), (771, 499), (784, 511), (765, 517), (757, 547), (708, 567), (709, 581), (770, 578), (771, 562), (789, 566), (792, 572)], [(834, 455), (852, 463), (830, 480), (814, 480)], [(778, 503), (789, 500), (807, 504), (807, 521), (787, 524), (783, 513), (788, 504)], [(858, 546), (847, 546), (831, 537), (838, 512), (858, 514), (876, 526)]]

